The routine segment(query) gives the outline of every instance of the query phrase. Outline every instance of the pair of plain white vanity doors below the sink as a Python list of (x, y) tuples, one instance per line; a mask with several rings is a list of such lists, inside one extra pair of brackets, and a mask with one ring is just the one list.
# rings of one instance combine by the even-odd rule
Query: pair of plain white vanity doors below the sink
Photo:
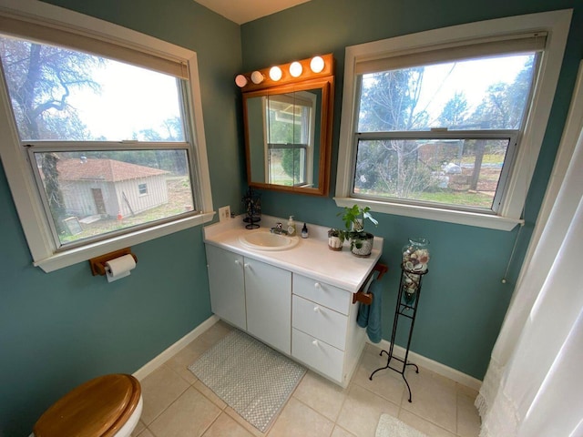
[(292, 351), (292, 273), (206, 245), (210, 307), (272, 348)]

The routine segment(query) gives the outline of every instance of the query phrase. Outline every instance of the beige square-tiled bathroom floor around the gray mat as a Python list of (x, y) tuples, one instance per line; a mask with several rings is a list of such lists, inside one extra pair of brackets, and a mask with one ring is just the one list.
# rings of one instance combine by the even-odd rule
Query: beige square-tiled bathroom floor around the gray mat
[(429, 437), (477, 437), (477, 392), (432, 371), (407, 371), (413, 402), (401, 375), (380, 371), (379, 349), (367, 345), (346, 389), (308, 371), (266, 433), (243, 421), (187, 369), (230, 331), (212, 326), (141, 381), (144, 411), (134, 437), (374, 437), (382, 413)]

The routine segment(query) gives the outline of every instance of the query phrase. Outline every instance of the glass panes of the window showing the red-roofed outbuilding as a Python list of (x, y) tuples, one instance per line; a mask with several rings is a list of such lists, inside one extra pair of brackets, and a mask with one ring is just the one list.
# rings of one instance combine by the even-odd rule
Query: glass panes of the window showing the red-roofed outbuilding
[[(194, 209), (179, 79), (8, 36), (0, 57), (60, 244)], [(144, 184), (151, 195), (138, 199)], [(80, 232), (67, 227), (72, 217)]]

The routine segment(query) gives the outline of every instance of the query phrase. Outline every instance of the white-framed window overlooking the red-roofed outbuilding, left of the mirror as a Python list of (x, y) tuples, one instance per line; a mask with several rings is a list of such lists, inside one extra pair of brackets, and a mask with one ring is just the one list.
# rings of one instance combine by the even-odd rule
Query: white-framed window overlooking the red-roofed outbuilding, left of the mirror
[[(14, 198), (36, 264), (208, 221), (196, 54), (85, 15), (59, 14), (56, 28), (2, 12), (0, 125), (14, 144), (1, 152), (13, 193), (29, 193)], [(98, 36), (67, 26), (78, 20)], [(23, 166), (20, 178), (10, 170)]]

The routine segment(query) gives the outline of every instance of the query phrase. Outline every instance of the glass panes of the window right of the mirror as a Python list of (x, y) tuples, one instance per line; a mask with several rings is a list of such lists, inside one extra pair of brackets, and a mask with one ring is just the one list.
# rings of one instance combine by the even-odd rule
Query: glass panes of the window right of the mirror
[[(361, 76), (354, 192), (492, 208), (534, 62), (493, 56)], [(497, 80), (493, 72), (510, 66), (519, 66), (514, 76)]]

